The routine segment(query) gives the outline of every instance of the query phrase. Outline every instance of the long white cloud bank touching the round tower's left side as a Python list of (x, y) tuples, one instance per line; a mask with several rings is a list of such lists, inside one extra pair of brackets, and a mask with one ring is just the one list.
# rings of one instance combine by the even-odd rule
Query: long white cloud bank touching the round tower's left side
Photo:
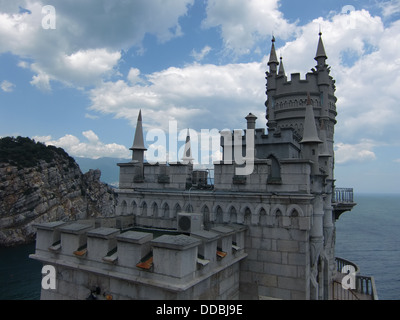
[(264, 73), (261, 63), (171, 67), (143, 76), (146, 84), (103, 83), (90, 92), (90, 110), (135, 124), (142, 109), (144, 125), (164, 129), (168, 120), (183, 128), (242, 128), (249, 112), (264, 117)]

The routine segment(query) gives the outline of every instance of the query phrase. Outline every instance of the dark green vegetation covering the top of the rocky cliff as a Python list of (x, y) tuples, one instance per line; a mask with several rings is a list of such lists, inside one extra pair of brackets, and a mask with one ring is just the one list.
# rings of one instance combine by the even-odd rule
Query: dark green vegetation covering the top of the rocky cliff
[(24, 137), (0, 139), (0, 163), (9, 163), (19, 169), (34, 167), (40, 160), (49, 163), (57, 154), (67, 158), (71, 166), (74, 165), (74, 159), (62, 148), (46, 146), (44, 143)]

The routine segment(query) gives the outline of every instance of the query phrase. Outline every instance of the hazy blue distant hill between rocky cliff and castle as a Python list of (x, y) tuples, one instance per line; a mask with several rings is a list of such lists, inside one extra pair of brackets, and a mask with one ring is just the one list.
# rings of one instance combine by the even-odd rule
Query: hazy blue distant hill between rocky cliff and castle
[(119, 167), (117, 163), (128, 162), (129, 159), (119, 158), (75, 158), (82, 172), (99, 169), (101, 171), (100, 180), (111, 186), (117, 186), (119, 181)]

